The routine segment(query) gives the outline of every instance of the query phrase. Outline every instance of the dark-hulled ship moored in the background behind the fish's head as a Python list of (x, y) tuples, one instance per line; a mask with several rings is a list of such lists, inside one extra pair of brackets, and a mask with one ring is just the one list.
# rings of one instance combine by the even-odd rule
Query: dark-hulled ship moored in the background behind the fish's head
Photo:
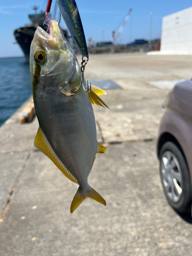
[[(44, 23), (46, 19), (45, 12), (40, 11), (39, 13), (37, 13), (37, 6), (32, 7), (32, 9), (35, 11), (35, 13), (28, 14), (28, 17), (31, 20), (31, 24), (26, 24), (24, 27), (15, 29), (13, 32), (16, 42), (24, 52), (26, 62), (29, 62), (31, 41), (33, 40), (37, 26), (47, 31), (47, 25)], [(69, 35), (68, 30), (62, 29), (62, 32), (66, 40), (69, 42), (70, 46), (74, 48), (73, 40), (72, 37)]]

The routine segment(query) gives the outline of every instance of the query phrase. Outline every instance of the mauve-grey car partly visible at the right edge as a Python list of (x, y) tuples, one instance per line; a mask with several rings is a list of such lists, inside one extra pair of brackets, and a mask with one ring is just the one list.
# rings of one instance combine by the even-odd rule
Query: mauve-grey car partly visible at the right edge
[(157, 156), (168, 203), (180, 213), (192, 203), (192, 81), (176, 84), (170, 92), (159, 126)]

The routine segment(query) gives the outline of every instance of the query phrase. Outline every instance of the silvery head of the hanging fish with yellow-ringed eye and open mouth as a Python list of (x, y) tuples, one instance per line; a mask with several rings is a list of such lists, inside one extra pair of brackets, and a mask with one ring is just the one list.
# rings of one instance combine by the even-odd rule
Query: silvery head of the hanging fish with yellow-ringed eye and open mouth
[(79, 87), (81, 72), (75, 53), (59, 24), (50, 19), (50, 34), (37, 27), (30, 50), (32, 87), (73, 91)]

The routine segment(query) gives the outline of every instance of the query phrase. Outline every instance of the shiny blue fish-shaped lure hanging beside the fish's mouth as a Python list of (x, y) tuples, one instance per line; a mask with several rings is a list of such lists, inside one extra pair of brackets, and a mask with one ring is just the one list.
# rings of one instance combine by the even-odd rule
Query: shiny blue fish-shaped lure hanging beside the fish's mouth
[(57, 0), (63, 19), (82, 56), (89, 57), (86, 37), (75, 0)]

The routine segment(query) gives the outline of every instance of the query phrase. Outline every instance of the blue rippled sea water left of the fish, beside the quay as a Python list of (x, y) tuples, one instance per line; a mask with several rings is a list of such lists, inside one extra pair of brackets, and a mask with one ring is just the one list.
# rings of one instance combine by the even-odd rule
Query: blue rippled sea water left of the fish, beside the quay
[(0, 58), (0, 126), (32, 95), (25, 58)]

